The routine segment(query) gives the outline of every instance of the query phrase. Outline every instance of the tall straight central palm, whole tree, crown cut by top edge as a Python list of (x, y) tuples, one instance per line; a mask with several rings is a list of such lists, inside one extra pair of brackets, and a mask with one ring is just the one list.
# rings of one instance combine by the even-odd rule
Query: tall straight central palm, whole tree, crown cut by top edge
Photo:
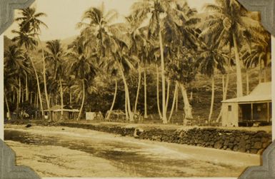
[[(186, 14), (184, 14), (185, 9), (182, 8), (184, 6), (186, 7), (186, 4), (180, 4), (179, 1), (171, 0), (140, 0), (132, 6), (132, 14), (136, 18), (136, 24), (144, 24), (144, 21), (149, 20), (149, 39), (154, 36), (159, 38), (162, 81), (162, 120), (164, 123), (167, 123), (164, 44), (166, 48), (167, 41), (171, 40), (171, 34), (176, 36), (176, 38), (173, 38), (174, 41), (180, 39), (178, 29), (184, 29), (186, 24), (192, 24), (198, 20), (190, 19), (190, 16), (193, 14), (190, 9), (189, 14), (186, 16)], [(189, 22), (187, 23), (187, 21)], [(188, 34), (185, 35), (189, 36)]]

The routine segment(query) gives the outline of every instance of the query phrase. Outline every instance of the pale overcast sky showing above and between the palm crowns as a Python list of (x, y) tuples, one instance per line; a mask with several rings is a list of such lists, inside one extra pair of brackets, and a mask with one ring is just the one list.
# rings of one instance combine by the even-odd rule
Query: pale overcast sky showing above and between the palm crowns
[[(131, 5), (136, 0), (36, 0), (32, 6), (35, 6), (37, 11), (47, 14), (41, 18), (49, 29), (41, 29), (41, 40), (49, 41), (54, 39), (66, 39), (79, 34), (79, 29), (76, 29), (76, 24), (81, 21), (81, 16), (91, 6), (100, 6), (102, 2), (105, 8), (116, 9), (121, 15), (128, 15)], [(201, 11), (201, 8), (206, 3), (214, 3), (214, 0), (186, 0), (191, 8), (196, 8)], [(15, 14), (18, 16), (18, 13)], [(5, 35), (9, 38), (13, 37), (11, 30), (17, 29), (14, 23)]]

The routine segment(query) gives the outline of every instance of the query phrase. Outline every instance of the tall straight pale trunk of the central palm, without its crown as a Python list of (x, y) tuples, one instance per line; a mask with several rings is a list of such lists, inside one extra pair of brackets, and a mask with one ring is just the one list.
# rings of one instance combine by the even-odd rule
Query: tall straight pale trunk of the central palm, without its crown
[[(160, 23), (159, 23), (160, 24)], [(159, 30), (159, 46), (161, 50), (161, 81), (162, 81), (162, 121), (168, 123), (166, 116), (166, 91), (165, 91), (165, 67), (164, 67), (164, 44), (162, 41), (161, 30)]]

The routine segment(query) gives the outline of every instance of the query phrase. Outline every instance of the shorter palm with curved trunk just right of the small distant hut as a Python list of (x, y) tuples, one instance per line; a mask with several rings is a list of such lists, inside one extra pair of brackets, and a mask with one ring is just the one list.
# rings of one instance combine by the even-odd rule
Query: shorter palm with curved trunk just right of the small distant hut
[[(77, 37), (69, 46), (69, 49), (71, 50), (67, 54), (69, 71), (76, 79), (80, 80), (82, 86), (82, 103), (77, 118), (77, 121), (79, 121), (84, 108), (87, 88), (96, 76), (96, 66), (94, 66), (93, 58), (87, 53), (87, 44), (83, 37)], [(80, 86), (80, 83), (78, 83), (78, 86)]]

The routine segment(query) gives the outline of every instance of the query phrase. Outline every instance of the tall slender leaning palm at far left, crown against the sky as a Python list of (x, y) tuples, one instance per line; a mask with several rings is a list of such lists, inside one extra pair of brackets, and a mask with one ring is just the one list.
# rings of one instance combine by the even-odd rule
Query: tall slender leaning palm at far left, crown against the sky
[[(47, 28), (46, 24), (41, 21), (39, 18), (46, 16), (44, 13), (36, 13), (35, 8), (26, 8), (21, 10), (21, 17), (16, 18), (16, 21), (19, 21), (19, 27), (21, 31), (24, 31), (25, 33), (31, 33), (33, 36), (38, 39), (39, 44), (41, 46), (41, 40), (39, 38), (39, 34), (41, 32), (40, 27), (44, 26)], [(44, 48), (41, 46), (42, 50), (42, 61), (43, 61), (43, 79), (44, 79), (44, 93), (46, 96), (46, 105), (49, 109), (49, 98), (48, 98), (48, 92), (46, 88), (46, 63), (45, 63), (45, 56), (44, 56)]]

